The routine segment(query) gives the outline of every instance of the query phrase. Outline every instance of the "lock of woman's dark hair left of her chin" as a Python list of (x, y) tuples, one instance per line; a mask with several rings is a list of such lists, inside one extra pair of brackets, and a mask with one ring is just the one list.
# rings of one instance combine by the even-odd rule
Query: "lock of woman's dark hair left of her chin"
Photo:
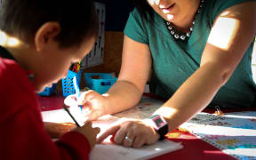
[(154, 10), (148, 4), (147, 0), (132, 0), (132, 4), (137, 8), (138, 12), (140, 12), (140, 16), (148, 20), (149, 17), (153, 17)]

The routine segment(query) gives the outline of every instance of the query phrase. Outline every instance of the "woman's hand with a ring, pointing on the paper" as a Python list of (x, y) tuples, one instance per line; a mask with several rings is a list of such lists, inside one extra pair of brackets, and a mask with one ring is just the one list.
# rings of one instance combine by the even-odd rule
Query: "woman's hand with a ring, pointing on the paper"
[(97, 140), (97, 143), (113, 135), (113, 141), (116, 144), (125, 147), (141, 148), (143, 145), (156, 143), (159, 139), (159, 134), (153, 126), (144, 121), (122, 118), (106, 132), (102, 133)]

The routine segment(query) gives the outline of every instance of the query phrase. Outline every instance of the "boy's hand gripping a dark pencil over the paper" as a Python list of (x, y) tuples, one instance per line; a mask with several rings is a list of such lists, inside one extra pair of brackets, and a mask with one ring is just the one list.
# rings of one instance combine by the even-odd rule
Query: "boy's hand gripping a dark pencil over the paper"
[(92, 128), (92, 123), (87, 121), (82, 127), (77, 127), (74, 131), (83, 134), (90, 143), (91, 150), (96, 143), (97, 134), (100, 132), (100, 128)]

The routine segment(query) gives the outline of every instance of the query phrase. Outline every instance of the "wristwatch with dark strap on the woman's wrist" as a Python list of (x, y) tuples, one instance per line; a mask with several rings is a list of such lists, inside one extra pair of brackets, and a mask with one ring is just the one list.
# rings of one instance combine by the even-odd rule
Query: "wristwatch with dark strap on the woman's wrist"
[(168, 124), (164, 120), (164, 117), (159, 115), (153, 115), (150, 116), (148, 119), (151, 120), (154, 129), (160, 135), (159, 140), (164, 140), (164, 136), (168, 132)]

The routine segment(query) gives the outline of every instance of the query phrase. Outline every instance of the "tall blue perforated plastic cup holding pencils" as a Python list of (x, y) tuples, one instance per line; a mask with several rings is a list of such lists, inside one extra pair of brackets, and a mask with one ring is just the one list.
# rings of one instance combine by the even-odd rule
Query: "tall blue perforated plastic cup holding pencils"
[(76, 76), (78, 86), (81, 81), (81, 75), (83, 70), (80, 70), (79, 72), (72, 72), (71, 70), (68, 70), (68, 75), (66, 78), (62, 78), (62, 94), (64, 97), (67, 97), (68, 95), (75, 94), (75, 86), (73, 84), (73, 78)]

